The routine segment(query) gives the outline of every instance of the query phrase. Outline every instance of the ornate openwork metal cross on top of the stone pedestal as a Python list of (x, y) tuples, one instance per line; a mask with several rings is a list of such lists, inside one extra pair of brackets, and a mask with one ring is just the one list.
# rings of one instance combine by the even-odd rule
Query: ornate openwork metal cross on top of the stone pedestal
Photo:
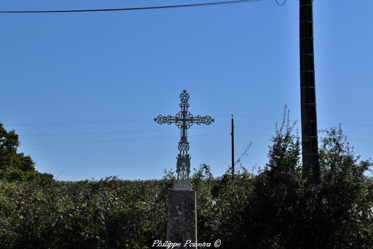
[(200, 115), (193, 117), (191, 113), (188, 112), (188, 99), (189, 94), (187, 90), (183, 90), (180, 94), (180, 99), (182, 103), (179, 105), (181, 107), (181, 112), (179, 112), (175, 117), (171, 115), (158, 116), (154, 119), (158, 124), (172, 124), (175, 123), (181, 130), (181, 138), (179, 142), (179, 151), (176, 163), (176, 172), (178, 173), (178, 179), (174, 186), (175, 190), (191, 190), (191, 183), (189, 179), (190, 173), (190, 155), (188, 154), (189, 142), (187, 141), (187, 128), (189, 128), (193, 123), (195, 124), (211, 124), (214, 122), (214, 119), (210, 116), (201, 117)]

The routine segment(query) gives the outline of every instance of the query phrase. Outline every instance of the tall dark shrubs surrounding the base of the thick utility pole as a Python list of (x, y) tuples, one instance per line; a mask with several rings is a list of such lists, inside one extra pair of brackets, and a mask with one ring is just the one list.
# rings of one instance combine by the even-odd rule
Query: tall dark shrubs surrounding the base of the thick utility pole
[[(285, 125), (286, 124), (286, 125)], [(321, 182), (302, 177), (299, 137), (284, 121), (247, 199), (248, 248), (372, 248), (371, 159), (360, 160), (341, 127), (324, 130)]]

